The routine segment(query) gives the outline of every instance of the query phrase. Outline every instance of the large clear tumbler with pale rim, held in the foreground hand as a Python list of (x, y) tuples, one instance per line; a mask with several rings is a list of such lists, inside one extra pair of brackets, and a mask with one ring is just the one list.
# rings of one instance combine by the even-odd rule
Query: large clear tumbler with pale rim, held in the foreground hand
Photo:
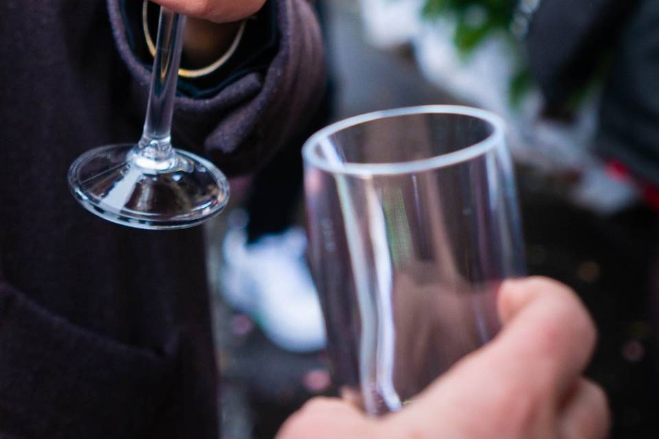
[(498, 331), (524, 274), (504, 123), (461, 106), (375, 112), (303, 147), (310, 263), (343, 397), (400, 410)]

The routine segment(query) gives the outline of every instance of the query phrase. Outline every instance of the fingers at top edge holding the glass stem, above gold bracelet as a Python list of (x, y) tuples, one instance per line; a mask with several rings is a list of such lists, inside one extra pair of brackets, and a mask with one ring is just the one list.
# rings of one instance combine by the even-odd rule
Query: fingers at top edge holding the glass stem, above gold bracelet
[(154, 0), (154, 3), (198, 19), (230, 23), (255, 14), (263, 7), (265, 0)]

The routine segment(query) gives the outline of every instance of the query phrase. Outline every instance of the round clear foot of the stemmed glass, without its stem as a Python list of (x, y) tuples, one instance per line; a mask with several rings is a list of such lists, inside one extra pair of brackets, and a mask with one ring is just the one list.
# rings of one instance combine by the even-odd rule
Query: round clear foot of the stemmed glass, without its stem
[(108, 221), (150, 230), (196, 226), (229, 201), (229, 182), (209, 161), (175, 150), (165, 169), (143, 166), (134, 145), (95, 148), (69, 169), (69, 187), (85, 209)]

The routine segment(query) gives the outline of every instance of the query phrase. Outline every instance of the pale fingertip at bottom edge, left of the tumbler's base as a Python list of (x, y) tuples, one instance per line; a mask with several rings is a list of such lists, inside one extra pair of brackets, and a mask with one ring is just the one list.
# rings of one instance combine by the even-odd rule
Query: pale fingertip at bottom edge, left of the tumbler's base
[(286, 420), (277, 439), (380, 439), (375, 429), (375, 422), (356, 407), (338, 399), (315, 398)]

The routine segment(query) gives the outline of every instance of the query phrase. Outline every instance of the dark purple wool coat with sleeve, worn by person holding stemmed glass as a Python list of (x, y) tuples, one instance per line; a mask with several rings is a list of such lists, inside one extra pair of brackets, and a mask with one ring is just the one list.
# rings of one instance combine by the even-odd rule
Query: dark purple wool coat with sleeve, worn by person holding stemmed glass
[[(272, 1), (263, 68), (177, 102), (179, 144), (230, 172), (321, 95), (310, 4)], [(0, 438), (218, 436), (202, 230), (122, 228), (67, 189), (76, 156), (141, 132), (148, 70), (125, 19), (116, 0), (0, 1)]]

